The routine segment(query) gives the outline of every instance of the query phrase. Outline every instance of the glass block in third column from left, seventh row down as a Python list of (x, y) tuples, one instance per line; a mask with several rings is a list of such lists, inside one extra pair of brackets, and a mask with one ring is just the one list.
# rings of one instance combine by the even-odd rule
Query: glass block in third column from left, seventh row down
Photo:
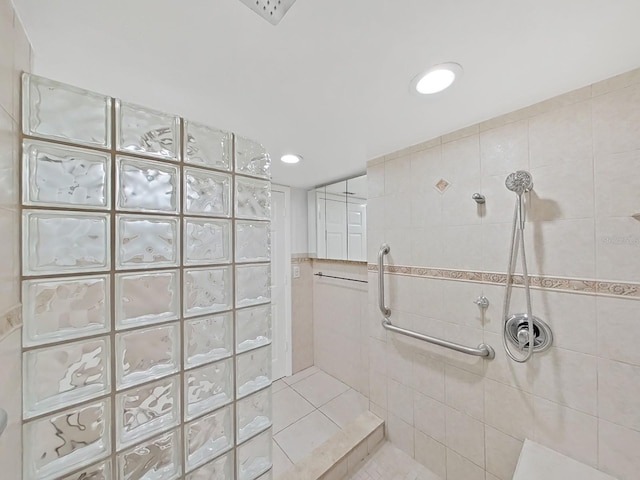
[(233, 447), (231, 407), (185, 425), (187, 469), (196, 468)]

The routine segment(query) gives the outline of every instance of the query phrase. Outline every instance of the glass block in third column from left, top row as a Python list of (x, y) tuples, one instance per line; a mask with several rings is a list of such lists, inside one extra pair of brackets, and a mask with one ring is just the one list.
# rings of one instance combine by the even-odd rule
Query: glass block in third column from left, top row
[(231, 134), (200, 123), (184, 122), (187, 152), (184, 161), (231, 170)]

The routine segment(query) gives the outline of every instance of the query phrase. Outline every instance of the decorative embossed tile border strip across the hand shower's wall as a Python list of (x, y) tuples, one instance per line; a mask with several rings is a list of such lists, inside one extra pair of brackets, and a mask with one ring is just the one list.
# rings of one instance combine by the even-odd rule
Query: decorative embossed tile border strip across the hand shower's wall
[[(368, 264), (367, 270), (377, 272), (378, 266)], [(407, 267), (402, 265), (386, 265), (385, 272), (414, 277), (440, 278), (443, 280), (460, 280), (466, 282), (481, 282), (494, 285), (504, 285), (507, 275), (504, 273), (477, 272), (466, 270), (449, 270), (444, 268)], [(597, 280), (583, 280), (580, 278), (542, 277), (531, 275), (531, 287), (541, 290), (581, 293), (586, 295), (602, 295), (625, 297), (640, 300), (640, 283), (601, 282)], [(513, 284), (522, 286), (522, 275), (513, 276)]]

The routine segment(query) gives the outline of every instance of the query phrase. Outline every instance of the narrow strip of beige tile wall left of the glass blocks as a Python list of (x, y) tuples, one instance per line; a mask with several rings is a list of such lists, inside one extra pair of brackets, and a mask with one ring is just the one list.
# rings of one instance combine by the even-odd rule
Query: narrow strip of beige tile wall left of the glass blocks
[(0, 437), (2, 478), (22, 478), (22, 354), (18, 216), (20, 72), (32, 52), (10, 0), (0, 0), (0, 408), (9, 414)]

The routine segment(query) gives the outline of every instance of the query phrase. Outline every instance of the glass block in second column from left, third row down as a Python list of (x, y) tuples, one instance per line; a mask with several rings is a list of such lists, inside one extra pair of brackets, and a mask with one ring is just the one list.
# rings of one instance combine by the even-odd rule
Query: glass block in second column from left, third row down
[(178, 218), (118, 215), (116, 268), (177, 267), (179, 232)]

